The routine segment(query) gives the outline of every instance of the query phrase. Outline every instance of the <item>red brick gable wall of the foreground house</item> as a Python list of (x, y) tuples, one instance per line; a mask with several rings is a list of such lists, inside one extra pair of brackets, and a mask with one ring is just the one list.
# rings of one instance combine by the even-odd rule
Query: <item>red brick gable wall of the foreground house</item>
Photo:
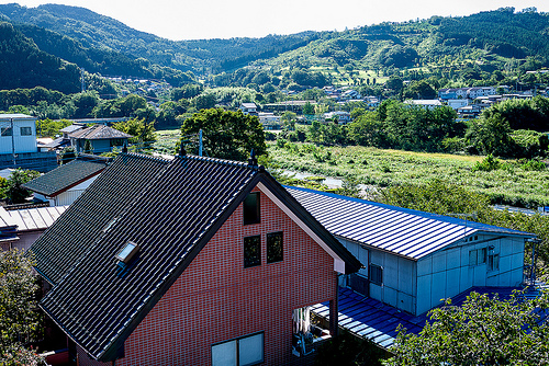
[[(209, 365), (211, 345), (265, 332), (265, 364), (290, 361), (293, 309), (336, 296), (333, 259), (261, 194), (261, 222), (242, 205), (124, 345), (125, 365)], [(283, 231), (283, 261), (267, 263), (266, 236)], [(244, 268), (243, 238), (261, 236), (261, 265)], [(79, 352), (80, 365), (89, 362)]]

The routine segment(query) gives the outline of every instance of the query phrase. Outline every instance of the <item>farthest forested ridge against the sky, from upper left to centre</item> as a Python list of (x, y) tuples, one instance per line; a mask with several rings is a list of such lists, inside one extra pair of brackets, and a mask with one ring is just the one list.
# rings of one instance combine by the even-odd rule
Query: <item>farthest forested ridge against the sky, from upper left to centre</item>
[(216, 72), (245, 66), (306, 45), (315, 32), (270, 35), (264, 38), (232, 38), (173, 42), (133, 30), (109, 16), (77, 7), (45, 4), (25, 8), (0, 5), (10, 21), (30, 23), (77, 39), (83, 47), (107, 48), (131, 58), (146, 58), (182, 71)]

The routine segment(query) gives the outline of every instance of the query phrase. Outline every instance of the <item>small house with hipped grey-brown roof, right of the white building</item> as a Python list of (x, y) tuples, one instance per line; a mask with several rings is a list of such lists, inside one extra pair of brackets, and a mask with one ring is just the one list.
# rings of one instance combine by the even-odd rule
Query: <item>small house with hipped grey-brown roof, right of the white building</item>
[(86, 141), (90, 141), (92, 148), (91, 152), (96, 155), (112, 151), (113, 147), (127, 145), (127, 140), (131, 137), (132, 135), (103, 125), (79, 128), (68, 133), (70, 145), (75, 147), (77, 152), (83, 152)]

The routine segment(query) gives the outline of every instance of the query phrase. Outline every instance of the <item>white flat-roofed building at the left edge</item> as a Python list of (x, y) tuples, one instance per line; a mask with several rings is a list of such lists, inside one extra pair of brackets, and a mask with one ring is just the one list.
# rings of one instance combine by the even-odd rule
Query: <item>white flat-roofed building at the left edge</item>
[(56, 165), (55, 153), (38, 151), (36, 117), (0, 114), (0, 169), (23, 168), (44, 172)]

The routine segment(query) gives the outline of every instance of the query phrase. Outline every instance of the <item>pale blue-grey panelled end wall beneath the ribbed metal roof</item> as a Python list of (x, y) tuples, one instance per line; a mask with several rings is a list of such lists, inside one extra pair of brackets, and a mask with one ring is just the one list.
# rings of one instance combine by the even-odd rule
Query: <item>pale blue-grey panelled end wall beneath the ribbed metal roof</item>
[[(524, 238), (472, 236), (417, 262), (416, 314), (430, 310), (473, 286), (512, 287), (523, 282)], [(493, 251), (488, 247), (493, 245)], [(485, 263), (471, 265), (470, 251), (486, 248), (486, 254), (498, 254), (498, 270)]]

